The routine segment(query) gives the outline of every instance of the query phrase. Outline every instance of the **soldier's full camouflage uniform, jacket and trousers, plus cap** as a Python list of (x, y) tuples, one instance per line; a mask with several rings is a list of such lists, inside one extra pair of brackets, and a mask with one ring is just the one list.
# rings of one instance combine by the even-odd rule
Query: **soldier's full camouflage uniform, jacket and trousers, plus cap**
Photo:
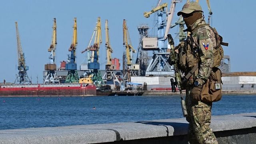
[[(185, 8), (183, 7), (180, 12), (189, 12), (189, 10), (186, 11), (186, 8), (189, 8), (190, 5), (185, 5)], [(202, 8), (200, 11), (202, 11)], [(210, 128), (212, 103), (202, 102), (200, 98), (199, 100), (198, 98), (195, 100), (195, 97), (199, 97), (202, 84), (208, 80), (212, 71), (214, 61), (213, 49), (216, 47), (216, 39), (213, 30), (206, 24), (203, 18), (196, 20), (194, 24), (190, 25), (190, 32), (191, 34), (188, 38), (190, 40), (187, 39), (186, 41), (187, 45), (193, 45), (193, 51), (197, 50), (198, 69), (192, 76), (193, 83), (189, 84), (188, 82), (186, 85), (185, 101), (188, 110), (188, 116), (186, 118), (189, 122), (188, 136), (190, 144), (218, 144)], [(189, 71), (190, 69), (186, 70), (185, 75)], [(194, 81), (198, 81), (200, 85), (195, 86)], [(199, 87), (198, 90), (192, 92), (197, 87)]]

